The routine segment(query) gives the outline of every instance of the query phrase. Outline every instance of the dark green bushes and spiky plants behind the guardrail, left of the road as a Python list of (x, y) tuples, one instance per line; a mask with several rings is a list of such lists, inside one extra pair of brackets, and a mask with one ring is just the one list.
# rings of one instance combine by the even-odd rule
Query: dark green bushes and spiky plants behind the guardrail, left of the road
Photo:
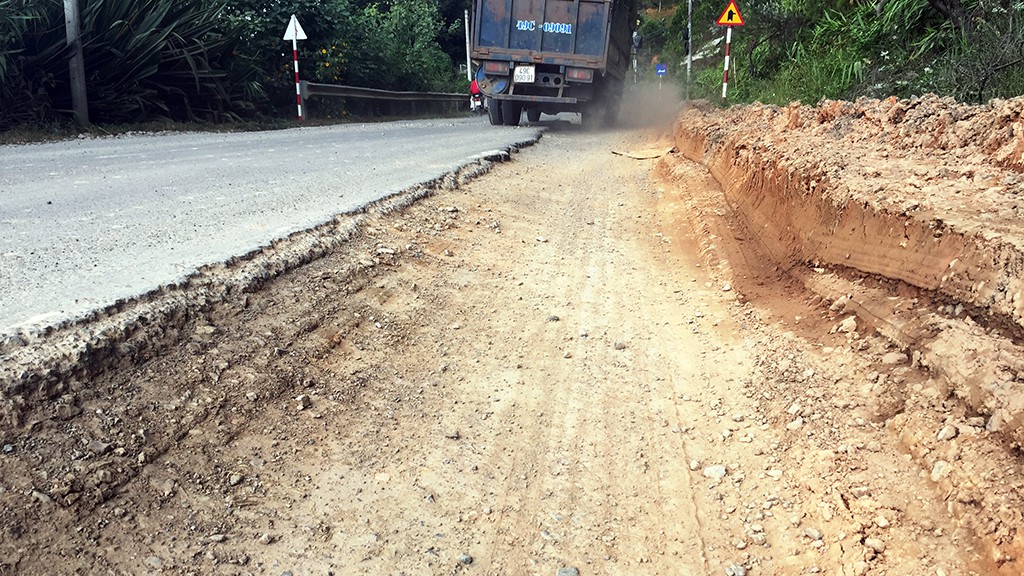
[[(90, 120), (240, 122), (294, 115), (305, 80), (394, 90), (468, 86), (469, 0), (79, 0)], [(0, 130), (71, 118), (61, 0), (0, 0)], [(465, 61), (463, 59), (462, 61)], [(339, 111), (343, 114), (344, 111)]]

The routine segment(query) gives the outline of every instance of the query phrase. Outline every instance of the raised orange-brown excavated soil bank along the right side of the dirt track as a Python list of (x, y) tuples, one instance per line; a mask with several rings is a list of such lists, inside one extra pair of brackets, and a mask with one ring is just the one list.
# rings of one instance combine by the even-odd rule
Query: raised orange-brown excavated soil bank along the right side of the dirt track
[[(697, 107), (675, 127), (679, 152), (721, 183), (743, 234), (927, 368), (939, 403), (963, 403), (946, 436), (982, 422), (1004, 439), (1005, 470), (1024, 441), (1022, 110), (1024, 99), (972, 107), (931, 95)], [(952, 463), (920, 433), (922, 411), (885, 417), (993, 558), (1018, 556), (1020, 510), (987, 501), (1019, 491), (1016, 477)]]

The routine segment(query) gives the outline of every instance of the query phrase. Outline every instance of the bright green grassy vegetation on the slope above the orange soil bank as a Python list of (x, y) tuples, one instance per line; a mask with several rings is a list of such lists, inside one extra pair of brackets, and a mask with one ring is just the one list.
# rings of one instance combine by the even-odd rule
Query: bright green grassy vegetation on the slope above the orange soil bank
[[(641, 14), (646, 77), (652, 59), (686, 84), (687, 4)], [(721, 99), (728, 0), (694, 0), (690, 97)], [(933, 92), (980, 104), (1024, 93), (1024, 2), (1016, 0), (737, 0), (730, 102), (908, 97)]]

